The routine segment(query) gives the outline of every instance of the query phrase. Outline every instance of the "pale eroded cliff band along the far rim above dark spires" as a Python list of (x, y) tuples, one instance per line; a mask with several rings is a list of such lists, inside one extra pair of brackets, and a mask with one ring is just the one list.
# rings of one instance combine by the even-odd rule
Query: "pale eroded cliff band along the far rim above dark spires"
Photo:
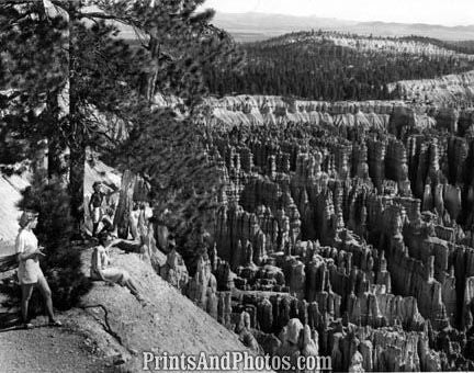
[[(400, 99), (416, 100), (420, 105), (415, 111), (400, 101), (365, 101), (361, 102), (354, 112), (350, 102), (295, 101), (300, 110), (291, 113), (291, 104), (281, 97), (238, 95), (208, 99), (204, 106), (212, 110), (212, 123), (229, 128), (240, 124), (281, 126), (294, 122), (335, 126), (339, 131), (388, 129), (395, 134), (399, 133), (403, 126), (456, 131), (459, 118), (466, 117), (470, 112), (442, 105), (470, 106), (470, 102), (474, 102), (474, 71), (462, 76), (445, 76), (438, 80), (400, 81), (391, 84), (390, 89), (400, 90)], [(419, 93), (421, 91), (422, 98)], [(244, 106), (251, 110), (244, 112)]]

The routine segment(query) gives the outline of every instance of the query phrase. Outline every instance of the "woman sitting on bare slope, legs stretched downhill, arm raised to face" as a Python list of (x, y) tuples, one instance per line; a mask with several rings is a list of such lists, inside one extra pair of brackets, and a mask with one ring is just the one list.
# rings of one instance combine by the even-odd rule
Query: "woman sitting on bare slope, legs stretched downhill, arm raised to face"
[(125, 286), (139, 302), (144, 302), (144, 297), (139, 294), (138, 289), (128, 272), (122, 268), (109, 267), (109, 249), (122, 241), (123, 239), (120, 238), (112, 239), (109, 233), (102, 233), (99, 236), (100, 245), (94, 248), (92, 253), (90, 278), (91, 280), (106, 281)]

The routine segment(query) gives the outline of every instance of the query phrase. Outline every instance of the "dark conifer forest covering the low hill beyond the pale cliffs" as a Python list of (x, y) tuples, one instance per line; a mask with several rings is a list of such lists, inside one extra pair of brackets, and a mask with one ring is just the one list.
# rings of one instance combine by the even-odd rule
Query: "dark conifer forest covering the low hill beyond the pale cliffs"
[[(211, 92), (218, 95), (282, 94), (328, 101), (386, 100), (392, 98), (387, 89), (390, 82), (436, 78), (466, 71), (474, 66), (473, 61), (455, 55), (358, 50), (335, 45), (324, 37), (305, 39), (312, 34), (321, 32), (294, 33), (244, 44), (247, 65), (239, 72), (205, 70)], [(431, 39), (426, 42), (431, 43)], [(443, 42), (439, 44), (443, 46)], [(450, 47), (453, 48), (461, 49)]]

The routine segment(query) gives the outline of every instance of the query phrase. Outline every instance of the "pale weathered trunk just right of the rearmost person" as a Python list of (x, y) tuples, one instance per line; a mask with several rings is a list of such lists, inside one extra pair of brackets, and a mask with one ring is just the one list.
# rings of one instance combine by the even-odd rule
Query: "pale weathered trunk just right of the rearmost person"
[(119, 205), (115, 212), (114, 225), (117, 227), (120, 238), (128, 237), (129, 216), (133, 207), (136, 176), (126, 170), (122, 177)]

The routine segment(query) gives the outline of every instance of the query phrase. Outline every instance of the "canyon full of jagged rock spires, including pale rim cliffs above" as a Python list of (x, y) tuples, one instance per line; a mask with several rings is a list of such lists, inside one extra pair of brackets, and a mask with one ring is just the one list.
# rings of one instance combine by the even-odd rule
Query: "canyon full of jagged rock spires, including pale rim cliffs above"
[(274, 97), (213, 108), (210, 154), (228, 177), (217, 259), (201, 260), (191, 298), (217, 297), (210, 312), (248, 346), (332, 357), (334, 370), (474, 368), (466, 110)]

